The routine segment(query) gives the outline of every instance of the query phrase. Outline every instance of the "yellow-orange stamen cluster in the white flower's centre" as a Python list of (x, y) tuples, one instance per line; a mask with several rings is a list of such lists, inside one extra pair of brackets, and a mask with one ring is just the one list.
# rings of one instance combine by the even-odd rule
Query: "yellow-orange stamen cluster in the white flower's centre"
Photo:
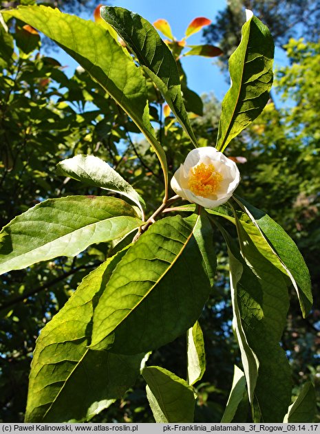
[(200, 163), (191, 169), (188, 187), (196, 196), (208, 197), (216, 193), (222, 180), (223, 176), (215, 171), (213, 164)]

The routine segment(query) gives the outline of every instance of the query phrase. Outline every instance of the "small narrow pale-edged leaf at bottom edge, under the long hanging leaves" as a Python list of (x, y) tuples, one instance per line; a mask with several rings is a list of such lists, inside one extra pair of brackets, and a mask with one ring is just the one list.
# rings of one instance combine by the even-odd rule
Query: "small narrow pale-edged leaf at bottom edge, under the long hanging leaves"
[(228, 402), (226, 403), (226, 409), (224, 410), (224, 414), (222, 416), (222, 424), (230, 424), (233, 422), (233, 418), (237, 413), (239, 405), (244, 399), (246, 399), (246, 397), (246, 378), (244, 377), (242, 370), (235, 365), (233, 383)]

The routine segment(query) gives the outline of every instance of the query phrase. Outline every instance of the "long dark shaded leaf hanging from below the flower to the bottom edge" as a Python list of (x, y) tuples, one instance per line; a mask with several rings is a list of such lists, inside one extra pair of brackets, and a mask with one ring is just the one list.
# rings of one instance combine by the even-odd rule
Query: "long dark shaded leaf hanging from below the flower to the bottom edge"
[[(234, 297), (237, 298), (233, 309), (238, 310), (238, 314), (235, 314), (244, 338), (257, 359), (258, 369), (253, 371), (254, 388), (249, 386), (250, 367), (247, 370), (244, 366), (248, 396), (253, 406), (253, 420), (282, 422), (288, 409), (292, 387), (290, 365), (279, 345), (286, 325), (288, 287), (284, 274), (255, 247), (239, 223), (237, 215), (235, 219), (241, 253), (231, 239), (226, 237), (226, 240), (231, 275), (237, 275), (237, 282), (234, 282), (236, 284), (232, 283)], [(237, 336), (238, 339), (242, 338), (240, 334)], [(277, 406), (274, 405), (275, 401)]]

